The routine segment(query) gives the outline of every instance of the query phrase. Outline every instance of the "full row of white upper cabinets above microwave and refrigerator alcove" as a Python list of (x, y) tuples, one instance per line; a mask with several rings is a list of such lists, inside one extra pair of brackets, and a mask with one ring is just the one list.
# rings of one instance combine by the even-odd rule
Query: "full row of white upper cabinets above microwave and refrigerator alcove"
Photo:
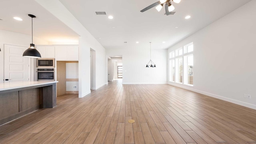
[(38, 45), (36, 49), (40, 52), (42, 58), (78, 61), (78, 45)]

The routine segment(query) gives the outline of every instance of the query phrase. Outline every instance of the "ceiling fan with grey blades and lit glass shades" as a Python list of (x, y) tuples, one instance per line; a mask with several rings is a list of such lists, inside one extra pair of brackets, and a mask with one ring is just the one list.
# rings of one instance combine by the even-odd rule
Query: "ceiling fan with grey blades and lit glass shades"
[(155, 2), (154, 4), (151, 4), (150, 6), (144, 8), (140, 12), (145, 12), (146, 10), (149, 10), (150, 8), (154, 8), (157, 5), (158, 6), (156, 7), (156, 10), (158, 10), (158, 12), (160, 12), (162, 7), (165, 5), (166, 16), (168, 16), (170, 14), (174, 14), (175, 12), (172, 12), (174, 10), (174, 6), (172, 5), (171, 1), (173, 1), (175, 3), (180, 3), (181, 0), (159, 0), (158, 2)]

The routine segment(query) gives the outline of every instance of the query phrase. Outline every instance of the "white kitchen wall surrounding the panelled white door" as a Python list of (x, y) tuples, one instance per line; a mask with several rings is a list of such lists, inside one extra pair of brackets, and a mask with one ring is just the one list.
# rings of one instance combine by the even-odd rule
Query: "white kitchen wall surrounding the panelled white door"
[[(4, 44), (10, 44), (10, 45), (16, 45), (16, 46), (26, 46), (29, 47), (30, 43), (32, 42), (32, 36), (26, 35), (26, 34), (20, 34), (16, 32), (9, 32), (5, 30), (0, 30), (0, 83), (3, 82), (2, 80), (4, 79)], [(34, 44), (48, 44), (47, 41), (42, 40), (40, 38), (33, 37), (33, 42)], [(36, 72), (34, 68), (36, 67), (36, 59), (35, 58), (30, 58), (31, 59), (31, 64), (30, 64), (30, 69), (31, 69), (31, 76), (30, 80), (34, 81), (36, 80)]]

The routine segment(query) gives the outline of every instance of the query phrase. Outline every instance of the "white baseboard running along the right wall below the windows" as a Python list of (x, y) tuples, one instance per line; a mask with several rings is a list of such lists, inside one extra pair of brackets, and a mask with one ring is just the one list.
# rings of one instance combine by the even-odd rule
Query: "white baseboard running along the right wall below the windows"
[(204, 94), (206, 96), (211, 96), (213, 98), (218, 98), (220, 100), (225, 100), (227, 102), (232, 102), (234, 104), (238, 104), (238, 105), (245, 106), (245, 107), (252, 108), (252, 109), (256, 110), (256, 105), (254, 105), (254, 104), (249, 104), (247, 102), (242, 102), (242, 101), (239, 101), (239, 100), (234, 100), (234, 99), (231, 99), (231, 98), (226, 98), (224, 96), (219, 96), (219, 95), (216, 95), (216, 94), (211, 94), (211, 93), (204, 92), (204, 91), (201, 91), (201, 90), (196, 90), (196, 89), (193, 89), (193, 88), (188, 88), (186, 86), (180, 86), (178, 84), (172, 84), (172, 83), (168, 83), (168, 84), (172, 85), (172, 86), (177, 86), (179, 88), (184, 88), (186, 90), (191, 90), (193, 92), (198, 92), (198, 93)]

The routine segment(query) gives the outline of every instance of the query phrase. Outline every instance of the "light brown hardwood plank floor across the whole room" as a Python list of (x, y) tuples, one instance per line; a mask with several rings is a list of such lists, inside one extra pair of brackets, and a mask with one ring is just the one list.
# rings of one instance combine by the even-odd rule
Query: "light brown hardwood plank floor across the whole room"
[(256, 144), (256, 110), (167, 84), (116, 80), (0, 126), (0, 144), (134, 143)]

